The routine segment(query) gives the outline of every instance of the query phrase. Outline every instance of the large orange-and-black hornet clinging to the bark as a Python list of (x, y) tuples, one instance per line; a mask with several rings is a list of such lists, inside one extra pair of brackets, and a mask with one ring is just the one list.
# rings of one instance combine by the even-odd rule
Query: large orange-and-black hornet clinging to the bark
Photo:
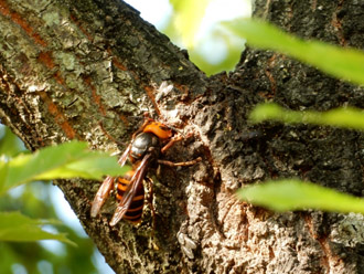
[(122, 177), (106, 177), (92, 203), (90, 215), (95, 218), (98, 214), (115, 183), (117, 183), (116, 198), (118, 205), (109, 224), (116, 225), (121, 219), (133, 224), (140, 223), (144, 204), (142, 183), (150, 165), (157, 162), (170, 167), (186, 167), (201, 161), (201, 157), (183, 162), (160, 159), (161, 155), (181, 139), (181, 136), (175, 135), (174, 130), (164, 124), (147, 118), (143, 125), (132, 135), (130, 144), (118, 161), (120, 166), (129, 161), (131, 170)]

